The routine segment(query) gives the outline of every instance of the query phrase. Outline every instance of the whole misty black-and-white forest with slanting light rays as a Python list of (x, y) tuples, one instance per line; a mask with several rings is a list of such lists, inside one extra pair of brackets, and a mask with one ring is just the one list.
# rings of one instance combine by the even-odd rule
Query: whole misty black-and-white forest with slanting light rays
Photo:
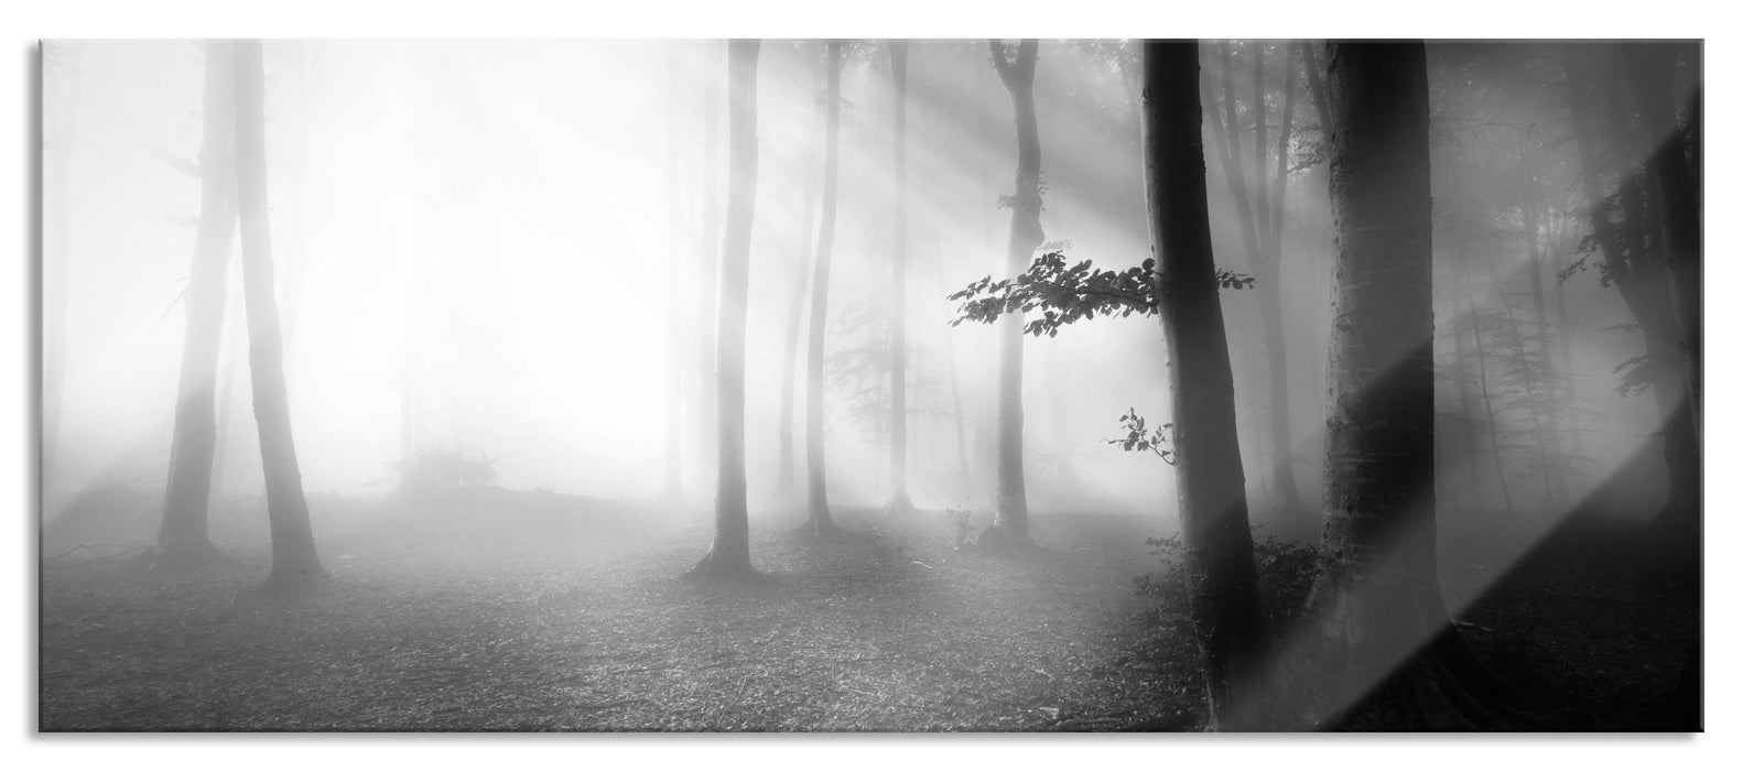
[(1699, 40), (45, 40), (37, 731), (1703, 731)]

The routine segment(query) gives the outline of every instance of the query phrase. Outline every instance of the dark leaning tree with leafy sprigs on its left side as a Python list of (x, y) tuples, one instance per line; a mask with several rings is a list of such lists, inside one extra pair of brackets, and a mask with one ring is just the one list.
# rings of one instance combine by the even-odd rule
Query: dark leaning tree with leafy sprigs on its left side
[(1147, 42), (1142, 68), (1145, 209), (1161, 262), (1100, 270), (1088, 260), (1067, 267), (1060, 251), (1048, 251), (1014, 279), (983, 277), (950, 295), (964, 300), (952, 326), (1041, 310), (1020, 333), (1055, 337), (1096, 316), (1161, 317), (1173, 422), (1152, 433), (1131, 412), (1121, 419), (1128, 436), (1110, 443), (1154, 450), (1175, 466), (1211, 726), (1255, 727), (1267, 717), (1248, 708), (1262, 682), (1267, 645), (1218, 298), (1220, 290), (1250, 288), (1253, 279), (1218, 270), (1213, 262), (1197, 44)]

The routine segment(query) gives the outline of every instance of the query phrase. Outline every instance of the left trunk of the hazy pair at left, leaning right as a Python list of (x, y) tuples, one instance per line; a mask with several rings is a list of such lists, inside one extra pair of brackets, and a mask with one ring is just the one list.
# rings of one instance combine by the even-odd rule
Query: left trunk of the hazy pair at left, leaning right
[(235, 235), (235, 45), (206, 44), (206, 94), (200, 108), (200, 223), (183, 304), (181, 382), (169, 445), (164, 520), (157, 530), (153, 570), (180, 570), (223, 560), (207, 534), (218, 422), (218, 349), (223, 342), (230, 239)]

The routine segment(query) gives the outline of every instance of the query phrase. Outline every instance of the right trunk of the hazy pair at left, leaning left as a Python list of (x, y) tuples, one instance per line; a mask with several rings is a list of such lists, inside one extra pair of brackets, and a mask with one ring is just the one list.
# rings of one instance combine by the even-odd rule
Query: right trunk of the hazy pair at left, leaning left
[(272, 230), (267, 220), (267, 84), (260, 40), (235, 44), (235, 181), (242, 223), (242, 293), (248, 300), (248, 368), (267, 476), (272, 574), (260, 591), (295, 593), (328, 581), (315, 555), (303, 499), (303, 474), (291, 441), (291, 405), (284, 387), (284, 340), (272, 281)]

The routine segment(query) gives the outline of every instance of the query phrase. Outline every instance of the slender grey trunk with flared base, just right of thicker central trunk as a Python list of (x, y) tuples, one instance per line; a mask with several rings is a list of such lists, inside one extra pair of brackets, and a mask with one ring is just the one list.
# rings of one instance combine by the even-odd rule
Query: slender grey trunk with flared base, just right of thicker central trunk
[(835, 249), (835, 194), (842, 134), (842, 42), (830, 40), (824, 63), (823, 126), (823, 223), (817, 253), (812, 256), (810, 340), (805, 345), (805, 480), (807, 506), (802, 530), (833, 536), (840, 529), (830, 518), (828, 473), (823, 448), (823, 337), (830, 317), (830, 253)]

